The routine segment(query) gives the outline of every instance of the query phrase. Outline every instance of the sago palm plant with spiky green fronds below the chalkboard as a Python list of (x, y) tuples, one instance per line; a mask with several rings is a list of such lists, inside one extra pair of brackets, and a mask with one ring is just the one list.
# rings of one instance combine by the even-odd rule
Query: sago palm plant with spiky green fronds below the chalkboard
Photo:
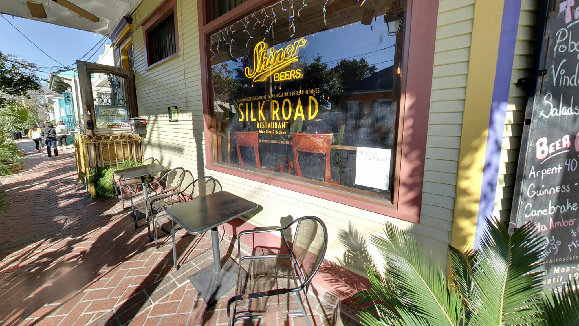
[(449, 247), (450, 276), (406, 231), (386, 224), (371, 242), (384, 273), (371, 266), (371, 288), (354, 295), (364, 325), (567, 326), (579, 325), (576, 281), (544, 291), (543, 238), (527, 223), (512, 235), (489, 222), (477, 251)]

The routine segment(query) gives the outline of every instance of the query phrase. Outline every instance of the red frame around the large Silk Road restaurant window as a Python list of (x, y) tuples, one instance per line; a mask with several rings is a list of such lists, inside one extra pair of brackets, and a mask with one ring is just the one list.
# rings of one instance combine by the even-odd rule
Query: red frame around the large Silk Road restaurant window
[[(266, 175), (265, 173), (247, 171), (214, 164), (212, 130), (213, 119), (210, 111), (210, 53), (209, 36), (259, 10), (270, 5), (271, 0), (248, 0), (224, 15), (207, 22), (205, 15), (206, 0), (197, 0), (199, 19), (199, 39), (201, 53), (201, 89), (203, 95), (203, 120), (205, 132), (205, 168), (239, 176), (299, 193), (340, 202), (352, 207), (365, 209), (406, 220), (420, 222), (422, 204), (422, 184), (424, 179), (424, 159), (426, 157), (426, 139), (428, 114), (430, 112), (430, 93), (434, 67), (434, 44), (438, 19), (438, 1), (408, 0), (404, 59), (402, 66), (402, 84), (400, 114), (398, 120), (398, 143), (395, 161), (393, 202), (384, 202), (374, 198), (345, 193), (345, 191), (313, 186), (306, 182), (288, 180)], [(431, 67), (431, 68), (425, 68)]]

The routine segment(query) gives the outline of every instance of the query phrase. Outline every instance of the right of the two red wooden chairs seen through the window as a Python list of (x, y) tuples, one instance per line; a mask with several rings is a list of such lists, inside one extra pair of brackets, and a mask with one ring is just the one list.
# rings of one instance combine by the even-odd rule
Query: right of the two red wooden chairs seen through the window
[[(309, 179), (340, 184), (339, 169), (331, 166), (332, 133), (291, 133), (292, 147), (294, 148), (294, 168), (298, 176)], [(300, 153), (307, 153), (301, 155)], [(323, 154), (324, 168), (316, 164)], [(301, 157), (300, 157), (301, 156)], [(302, 165), (300, 165), (302, 161)]]

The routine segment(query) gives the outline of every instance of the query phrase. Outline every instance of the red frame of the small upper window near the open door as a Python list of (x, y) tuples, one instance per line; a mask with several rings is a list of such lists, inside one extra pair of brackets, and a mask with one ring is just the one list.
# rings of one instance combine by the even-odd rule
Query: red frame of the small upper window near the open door
[[(171, 13), (174, 14), (173, 20), (175, 23), (175, 53), (155, 63), (149, 63), (151, 61), (149, 59), (149, 52), (147, 50), (147, 45), (149, 44), (149, 31), (152, 28), (156, 27), (161, 21), (166, 19), (169, 15), (171, 15)], [(149, 17), (145, 19), (145, 21), (143, 21), (141, 25), (143, 28), (146, 69), (155, 67), (158, 64), (162, 64), (163, 62), (179, 55), (179, 27), (177, 24), (177, 0), (166, 0), (165, 2), (163, 2), (159, 7), (155, 9), (155, 11), (151, 13), (151, 15), (149, 15)]]

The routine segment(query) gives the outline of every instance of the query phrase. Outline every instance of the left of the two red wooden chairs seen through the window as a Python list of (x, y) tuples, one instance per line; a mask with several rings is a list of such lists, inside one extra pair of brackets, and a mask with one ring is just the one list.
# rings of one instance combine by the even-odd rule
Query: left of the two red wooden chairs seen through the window
[[(280, 153), (271, 153), (263, 157), (259, 155), (259, 133), (256, 131), (236, 131), (235, 133), (235, 146), (237, 147), (237, 158), (239, 158), (239, 164), (248, 166), (255, 166), (258, 169), (264, 169), (269, 171), (280, 170), (284, 172), (284, 165), (287, 162), (287, 158)], [(241, 158), (241, 147), (253, 147), (254, 148), (254, 160), (243, 161)]]

